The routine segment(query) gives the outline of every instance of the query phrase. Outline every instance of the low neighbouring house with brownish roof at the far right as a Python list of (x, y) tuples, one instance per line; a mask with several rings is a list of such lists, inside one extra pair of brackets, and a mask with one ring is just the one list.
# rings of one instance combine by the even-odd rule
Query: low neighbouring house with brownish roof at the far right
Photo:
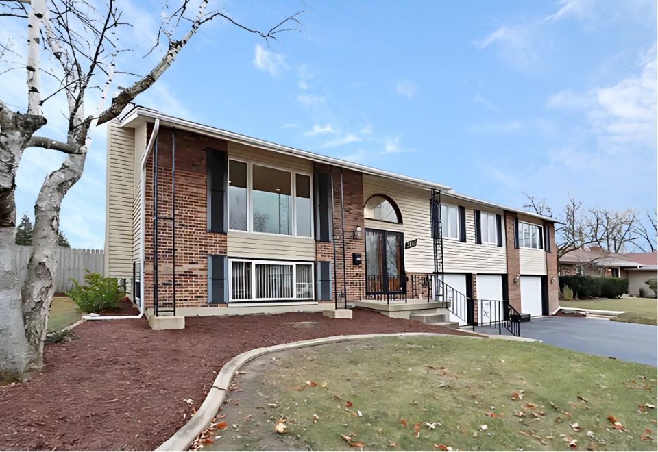
[(639, 295), (644, 288), (654, 294), (646, 284), (658, 277), (658, 253), (609, 253), (600, 247), (570, 251), (560, 258), (560, 275), (590, 275), (629, 280), (629, 294)]

